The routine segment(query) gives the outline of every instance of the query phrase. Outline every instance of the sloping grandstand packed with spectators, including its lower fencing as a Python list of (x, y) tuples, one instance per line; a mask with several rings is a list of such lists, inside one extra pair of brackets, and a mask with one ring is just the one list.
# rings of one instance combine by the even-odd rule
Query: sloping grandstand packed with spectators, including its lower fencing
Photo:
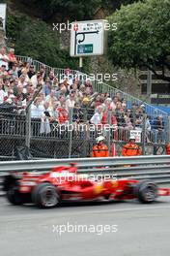
[[(2, 159), (14, 159), (15, 148), (25, 142), (34, 157), (90, 156), (99, 133), (109, 148), (114, 142), (121, 151), (130, 130), (141, 132), (143, 153), (164, 150), (169, 141), (166, 112), (79, 71), (14, 56), (13, 49), (7, 56), (11, 66), (1, 63), (0, 69)], [(99, 119), (94, 121), (96, 112)], [(109, 131), (103, 129), (105, 124), (111, 125)]]

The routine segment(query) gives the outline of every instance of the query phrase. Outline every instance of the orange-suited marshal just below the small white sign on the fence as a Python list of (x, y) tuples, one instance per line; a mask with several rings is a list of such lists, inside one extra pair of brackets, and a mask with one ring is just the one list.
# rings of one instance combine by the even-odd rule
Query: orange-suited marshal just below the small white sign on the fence
[(130, 136), (128, 144), (125, 144), (122, 149), (122, 156), (138, 156), (142, 151), (138, 144), (135, 144), (135, 137)]

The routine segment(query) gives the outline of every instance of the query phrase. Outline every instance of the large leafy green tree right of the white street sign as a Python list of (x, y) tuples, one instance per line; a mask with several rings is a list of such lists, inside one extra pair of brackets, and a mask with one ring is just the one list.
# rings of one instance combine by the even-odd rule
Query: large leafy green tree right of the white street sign
[[(170, 1), (146, 0), (121, 8), (109, 17), (117, 22), (116, 32), (109, 33), (109, 56), (121, 68), (152, 70), (156, 77), (170, 76)], [(156, 68), (161, 69), (157, 74)]]

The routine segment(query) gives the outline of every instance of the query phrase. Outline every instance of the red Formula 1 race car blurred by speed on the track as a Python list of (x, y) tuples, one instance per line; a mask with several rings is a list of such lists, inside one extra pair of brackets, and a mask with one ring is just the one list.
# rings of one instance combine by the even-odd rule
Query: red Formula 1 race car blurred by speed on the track
[(153, 203), (157, 196), (170, 195), (170, 189), (158, 188), (151, 180), (92, 178), (77, 174), (75, 165), (57, 167), (45, 174), (14, 173), (5, 177), (4, 190), (13, 205), (34, 203), (40, 208), (53, 208), (64, 201), (98, 199), (138, 199), (141, 203)]

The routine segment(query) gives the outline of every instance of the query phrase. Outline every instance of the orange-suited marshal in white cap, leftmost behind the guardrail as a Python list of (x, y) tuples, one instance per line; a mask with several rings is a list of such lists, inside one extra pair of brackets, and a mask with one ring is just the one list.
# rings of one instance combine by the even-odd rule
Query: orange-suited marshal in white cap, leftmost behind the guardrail
[(103, 144), (104, 137), (99, 136), (96, 139), (97, 144), (94, 145), (93, 151), (92, 151), (92, 157), (108, 157), (109, 152), (108, 152), (108, 147), (106, 144)]

